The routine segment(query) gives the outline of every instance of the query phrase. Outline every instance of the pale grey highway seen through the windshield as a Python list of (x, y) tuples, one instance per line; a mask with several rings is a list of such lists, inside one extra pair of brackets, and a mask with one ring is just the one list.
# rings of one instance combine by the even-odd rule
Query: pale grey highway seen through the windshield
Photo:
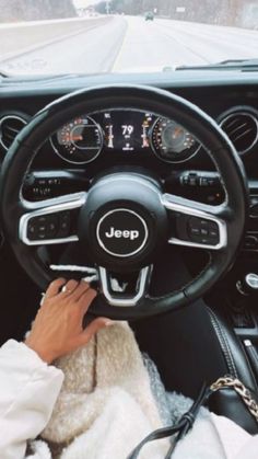
[(20, 74), (159, 71), (243, 58), (258, 58), (257, 31), (116, 16), (9, 60), (0, 55), (0, 69)]

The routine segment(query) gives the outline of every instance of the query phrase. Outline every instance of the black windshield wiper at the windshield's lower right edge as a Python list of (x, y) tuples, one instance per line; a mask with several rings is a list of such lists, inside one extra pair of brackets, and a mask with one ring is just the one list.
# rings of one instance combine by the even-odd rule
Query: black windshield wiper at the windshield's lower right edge
[(258, 70), (258, 59), (227, 59), (215, 64), (204, 64), (202, 66), (178, 66), (175, 70)]

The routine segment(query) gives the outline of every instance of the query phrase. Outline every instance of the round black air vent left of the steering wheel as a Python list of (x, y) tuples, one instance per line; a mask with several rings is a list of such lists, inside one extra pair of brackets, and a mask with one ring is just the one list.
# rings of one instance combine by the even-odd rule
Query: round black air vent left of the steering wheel
[(0, 118), (0, 144), (8, 150), (16, 135), (27, 124), (27, 121), (20, 115), (5, 115)]

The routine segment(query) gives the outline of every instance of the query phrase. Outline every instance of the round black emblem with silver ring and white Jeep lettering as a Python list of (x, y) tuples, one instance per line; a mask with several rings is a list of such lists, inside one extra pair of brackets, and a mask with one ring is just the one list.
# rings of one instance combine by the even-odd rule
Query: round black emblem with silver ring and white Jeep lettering
[(98, 221), (96, 237), (109, 255), (127, 257), (139, 253), (146, 244), (149, 231), (144, 219), (130, 209), (114, 209)]

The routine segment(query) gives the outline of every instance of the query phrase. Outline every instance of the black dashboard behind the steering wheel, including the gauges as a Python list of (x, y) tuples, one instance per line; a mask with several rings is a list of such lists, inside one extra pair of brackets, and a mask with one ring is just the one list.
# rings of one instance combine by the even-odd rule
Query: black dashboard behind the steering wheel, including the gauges
[[(38, 110), (75, 89), (119, 83), (120, 78), (5, 82), (0, 90), (0, 162)], [(122, 82), (172, 91), (198, 105), (224, 129), (249, 181), (251, 210), (245, 248), (258, 251), (258, 76), (189, 71), (173, 77), (122, 76)], [(30, 200), (39, 200), (84, 191), (95, 176), (117, 167), (159, 176), (168, 193), (211, 205), (224, 199), (215, 165), (191, 133), (176, 119), (122, 107), (87, 116), (79, 113), (52, 133), (31, 165), (23, 194)]]

